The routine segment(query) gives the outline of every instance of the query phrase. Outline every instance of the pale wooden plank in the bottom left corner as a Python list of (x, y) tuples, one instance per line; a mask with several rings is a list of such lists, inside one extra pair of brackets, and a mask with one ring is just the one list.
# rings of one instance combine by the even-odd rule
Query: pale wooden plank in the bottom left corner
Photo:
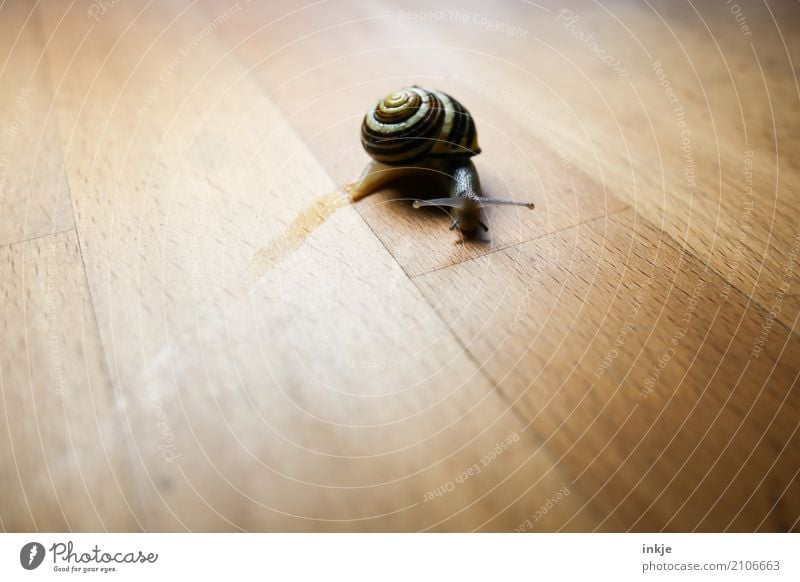
[(140, 529), (74, 231), (0, 248), (0, 528)]

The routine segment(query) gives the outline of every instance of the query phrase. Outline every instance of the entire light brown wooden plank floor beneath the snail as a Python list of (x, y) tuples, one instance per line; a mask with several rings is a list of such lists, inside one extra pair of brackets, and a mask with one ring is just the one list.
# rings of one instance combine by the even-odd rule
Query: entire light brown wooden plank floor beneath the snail
[[(797, 531), (798, 17), (5, 0), (0, 528)], [(534, 212), (332, 202), (413, 83)]]

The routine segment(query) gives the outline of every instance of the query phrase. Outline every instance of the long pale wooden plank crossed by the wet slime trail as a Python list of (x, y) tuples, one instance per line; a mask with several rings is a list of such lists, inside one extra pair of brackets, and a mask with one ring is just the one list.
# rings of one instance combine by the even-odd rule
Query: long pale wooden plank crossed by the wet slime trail
[(40, 8), (147, 529), (509, 530), (559, 492), (358, 213), (325, 220), (334, 183), (212, 34), (244, 8)]

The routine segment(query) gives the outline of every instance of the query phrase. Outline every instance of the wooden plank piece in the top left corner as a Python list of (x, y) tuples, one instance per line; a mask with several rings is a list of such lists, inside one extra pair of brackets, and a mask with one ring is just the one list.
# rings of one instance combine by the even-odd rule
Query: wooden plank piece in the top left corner
[(74, 226), (34, 8), (0, 7), (0, 245)]

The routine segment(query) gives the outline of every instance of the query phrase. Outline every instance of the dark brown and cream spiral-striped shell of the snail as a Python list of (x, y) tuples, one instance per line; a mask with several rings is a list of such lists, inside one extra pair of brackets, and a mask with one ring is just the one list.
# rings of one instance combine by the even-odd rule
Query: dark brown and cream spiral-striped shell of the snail
[(393, 165), (481, 151), (469, 111), (446, 93), (416, 86), (390, 93), (367, 112), (361, 143), (374, 160)]

